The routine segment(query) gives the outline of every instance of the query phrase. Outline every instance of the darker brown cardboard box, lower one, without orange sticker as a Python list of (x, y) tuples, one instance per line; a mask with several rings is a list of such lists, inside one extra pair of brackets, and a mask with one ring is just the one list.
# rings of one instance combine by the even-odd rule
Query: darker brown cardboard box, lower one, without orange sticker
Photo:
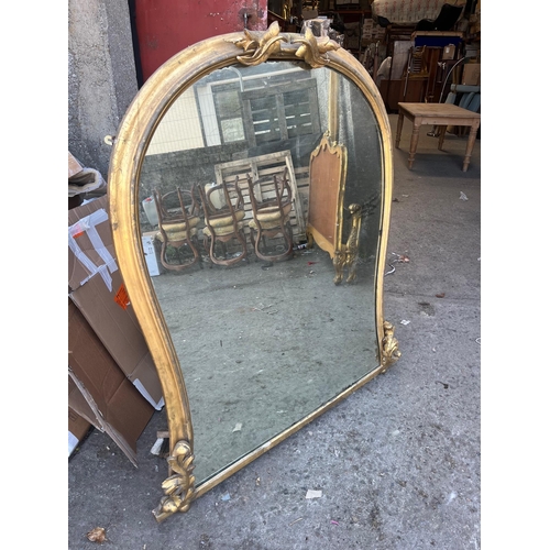
[(154, 408), (119, 369), (80, 310), (68, 300), (69, 407), (107, 432), (138, 466), (138, 438)]

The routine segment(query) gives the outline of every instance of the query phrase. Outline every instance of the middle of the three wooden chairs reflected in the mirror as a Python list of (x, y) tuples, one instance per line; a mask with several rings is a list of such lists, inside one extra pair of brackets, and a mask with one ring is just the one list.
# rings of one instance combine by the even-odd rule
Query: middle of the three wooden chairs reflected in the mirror
[[(218, 265), (233, 265), (246, 258), (244, 235), (244, 199), (238, 179), (234, 184), (199, 185), (205, 224), (202, 229), (205, 249), (210, 260)], [(228, 250), (232, 244), (232, 250)], [(219, 249), (222, 255), (219, 254)], [(237, 252), (234, 252), (237, 250)]]

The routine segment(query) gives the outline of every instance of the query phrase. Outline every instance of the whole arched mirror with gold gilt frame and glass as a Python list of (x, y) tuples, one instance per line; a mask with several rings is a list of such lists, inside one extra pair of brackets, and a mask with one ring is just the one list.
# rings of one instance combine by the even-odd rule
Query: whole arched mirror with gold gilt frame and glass
[(158, 521), (400, 355), (383, 316), (392, 179), (376, 87), (310, 30), (209, 38), (140, 90), (109, 202), (165, 399)]

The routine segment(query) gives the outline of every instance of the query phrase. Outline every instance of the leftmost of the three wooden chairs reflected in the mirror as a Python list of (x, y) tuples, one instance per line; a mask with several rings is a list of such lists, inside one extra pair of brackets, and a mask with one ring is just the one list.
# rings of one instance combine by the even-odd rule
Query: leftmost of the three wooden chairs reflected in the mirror
[(153, 189), (162, 241), (161, 263), (166, 270), (183, 271), (197, 262), (202, 267), (197, 237), (199, 205), (195, 193), (195, 186), (190, 191), (177, 187), (164, 195)]

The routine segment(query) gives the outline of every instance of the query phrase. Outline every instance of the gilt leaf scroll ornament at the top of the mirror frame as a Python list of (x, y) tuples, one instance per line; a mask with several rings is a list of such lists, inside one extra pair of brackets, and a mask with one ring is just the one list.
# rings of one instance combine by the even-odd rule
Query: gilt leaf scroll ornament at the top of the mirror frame
[(305, 61), (310, 67), (318, 68), (327, 65), (329, 58), (327, 52), (340, 47), (328, 36), (316, 37), (311, 29), (307, 29), (304, 36), (290, 36), (280, 33), (279, 24), (275, 21), (266, 32), (252, 32), (244, 30), (244, 36), (233, 41), (235, 46), (244, 51), (243, 55), (238, 55), (237, 59), (243, 65), (260, 65), (270, 57), (293, 55)]

